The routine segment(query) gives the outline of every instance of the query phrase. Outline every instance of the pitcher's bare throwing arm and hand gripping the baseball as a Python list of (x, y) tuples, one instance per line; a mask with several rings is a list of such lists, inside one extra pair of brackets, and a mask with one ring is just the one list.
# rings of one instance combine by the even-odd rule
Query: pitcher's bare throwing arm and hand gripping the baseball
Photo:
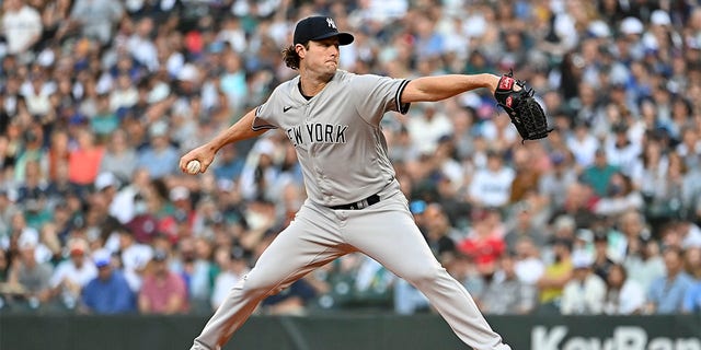
[(187, 163), (197, 160), (202, 164), (199, 172), (204, 173), (205, 171), (207, 171), (207, 167), (209, 167), (211, 162), (214, 162), (215, 154), (225, 145), (245, 139), (251, 139), (267, 131), (266, 129), (253, 130), (252, 126), (254, 119), (255, 109), (252, 109), (251, 112), (246, 113), (239, 121), (237, 121), (228, 129), (219, 132), (219, 135), (217, 135), (207, 143), (187, 152), (180, 159), (181, 171), (183, 171), (183, 173), (187, 173)]

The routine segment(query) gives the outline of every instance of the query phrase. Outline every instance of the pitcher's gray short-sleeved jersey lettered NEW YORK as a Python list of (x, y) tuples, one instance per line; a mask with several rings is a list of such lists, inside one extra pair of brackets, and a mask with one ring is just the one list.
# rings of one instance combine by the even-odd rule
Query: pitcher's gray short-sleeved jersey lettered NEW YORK
[(405, 114), (407, 80), (338, 70), (313, 98), (299, 77), (280, 84), (255, 112), (254, 130), (279, 128), (297, 149), (307, 195), (324, 206), (356, 202), (394, 179), (379, 127), (384, 113)]

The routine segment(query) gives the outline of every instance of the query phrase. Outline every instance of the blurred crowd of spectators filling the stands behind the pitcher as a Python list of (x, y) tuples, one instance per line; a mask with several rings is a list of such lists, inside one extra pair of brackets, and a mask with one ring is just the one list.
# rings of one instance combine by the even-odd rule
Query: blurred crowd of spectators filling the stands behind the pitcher
[[(0, 313), (210, 313), (304, 200), (275, 131), (180, 155), (296, 74), (295, 23), (354, 33), (343, 69), (514, 69), (554, 131), (487, 91), (382, 121), (410, 209), (486, 314), (701, 312), (696, 0), (2, 0)], [(348, 166), (353, 166), (349, 164)], [(411, 259), (411, 256), (406, 257)], [(430, 313), (358, 254), (261, 314)]]

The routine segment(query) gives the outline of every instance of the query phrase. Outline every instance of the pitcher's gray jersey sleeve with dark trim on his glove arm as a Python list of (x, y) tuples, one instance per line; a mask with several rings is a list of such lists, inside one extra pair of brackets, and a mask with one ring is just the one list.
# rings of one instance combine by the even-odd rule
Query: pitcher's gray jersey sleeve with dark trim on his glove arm
[(402, 92), (409, 80), (375, 74), (359, 75), (354, 85), (356, 108), (368, 121), (379, 122), (384, 113), (393, 110), (406, 114), (411, 104), (401, 103)]

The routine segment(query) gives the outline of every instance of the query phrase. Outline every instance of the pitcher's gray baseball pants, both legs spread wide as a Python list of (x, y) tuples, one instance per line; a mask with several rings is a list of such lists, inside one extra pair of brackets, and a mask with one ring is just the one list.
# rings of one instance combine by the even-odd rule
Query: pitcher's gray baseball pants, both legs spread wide
[(398, 186), (379, 195), (380, 202), (361, 210), (332, 210), (307, 200), (231, 290), (191, 350), (221, 349), (272, 292), (353, 252), (368, 255), (421, 290), (464, 343), (476, 350), (510, 349), (462, 284), (436, 260)]

